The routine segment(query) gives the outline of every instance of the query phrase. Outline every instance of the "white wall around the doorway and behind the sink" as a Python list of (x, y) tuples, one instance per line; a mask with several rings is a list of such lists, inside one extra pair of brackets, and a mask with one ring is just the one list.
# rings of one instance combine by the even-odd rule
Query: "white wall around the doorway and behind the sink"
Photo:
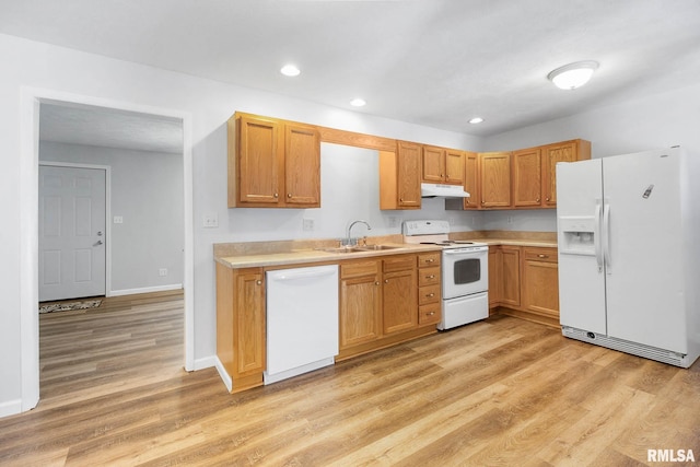
[[(23, 212), (36, 210), (36, 194), (25, 189), (32, 186), (32, 159), (36, 157), (27, 148), (26, 139), (22, 138), (22, 135), (32, 130), (21, 125), (25, 122), (26, 126), (27, 121), (32, 121), (27, 117), (33, 112), (32, 103), (24, 97), (32, 92), (27, 92), (26, 87), (47, 91), (51, 95), (65, 95), (68, 101), (70, 96), (85, 96), (93, 101), (92, 104), (94, 101), (119, 102), (133, 104), (144, 113), (149, 113), (149, 108), (165, 108), (191, 115), (195, 279), (194, 291), (190, 292), (195, 296), (192, 353), (196, 367), (212, 364), (211, 358), (215, 353), (212, 244), (308, 235), (302, 230), (303, 210), (280, 212), (282, 210), (226, 208), (225, 122), (234, 112), (451, 148), (479, 150), (481, 144), (479, 138), (465, 135), (320, 106), (7, 35), (0, 35), (0, 62), (3, 63), (0, 73), (0, 102), (3, 103), (0, 106), (0, 196), (5, 200), (0, 207), (3, 221), (3, 229), (0, 229), (0, 296), (3, 299), (0, 302), (0, 416), (21, 409), (22, 396), (28, 390), (26, 382), (31, 381), (22, 373), (22, 353), (32, 351), (23, 349), (21, 336), (27, 332), (26, 327), (32, 327), (33, 317), (20, 312), (23, 307), (34, 306), (27, 303), (33, 301), (32, 287), (26, 280), (21, 280), (23, 275), (31, 276), (27, 270), (32, 269), (31, 265), (22, 262), (23, 257), (31, 256), (22, 248), (33, 247), (23, 236), (33, 235), (34, 229), (32, 222), (25, 221)], [(435, 212), (442, 214), (434, 200), (425, 205), (425, 215)], [(308, 210), (306, 214), (316, 215), (312, 211)], [(219, 229), (202, 226), (203, 215), (210, 213), (219, 217)], [(464, 219), (478, 219), (478, 214), (460, 215)], [(347, 222), (342, 213), (336, 212), (331, 218), (323, 215), (318, 218), (323, 231), (313, 233), (342, 236)], [(410, 212), (406, 215), (421, 217), (421, 213)], [(398, 233), (399, 229), (393, 227), (392, 231)], [(28, 331), (36, 332), (35, 329)]]

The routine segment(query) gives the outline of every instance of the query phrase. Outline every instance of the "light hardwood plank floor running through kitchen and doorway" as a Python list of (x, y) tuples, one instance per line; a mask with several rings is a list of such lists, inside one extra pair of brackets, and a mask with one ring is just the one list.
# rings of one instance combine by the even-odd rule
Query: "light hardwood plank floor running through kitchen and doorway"
[[(700, 457), (681, 370), (492, 317), (230, 395), (186, 373), (179, 294), (40, 318), (42, 401), (0, 419), (0, 465), (637, 466)], [(699, 459), (700, 460), (700, 459)]]

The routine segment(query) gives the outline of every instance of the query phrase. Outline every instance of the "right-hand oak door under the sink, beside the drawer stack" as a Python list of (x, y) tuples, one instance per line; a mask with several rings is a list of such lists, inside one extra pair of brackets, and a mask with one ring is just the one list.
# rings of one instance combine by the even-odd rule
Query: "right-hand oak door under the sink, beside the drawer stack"
[(384, 334), (418, 326), (416, 269), (385, 273), (382, 294)]

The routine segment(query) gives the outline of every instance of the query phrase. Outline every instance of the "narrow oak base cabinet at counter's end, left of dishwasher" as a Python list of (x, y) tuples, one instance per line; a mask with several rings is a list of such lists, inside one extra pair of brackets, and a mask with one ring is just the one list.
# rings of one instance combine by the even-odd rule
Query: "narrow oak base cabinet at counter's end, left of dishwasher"
[(217, 262), (217, 357), (231, 392), (262, 384), (265, 371), (265, 275)]

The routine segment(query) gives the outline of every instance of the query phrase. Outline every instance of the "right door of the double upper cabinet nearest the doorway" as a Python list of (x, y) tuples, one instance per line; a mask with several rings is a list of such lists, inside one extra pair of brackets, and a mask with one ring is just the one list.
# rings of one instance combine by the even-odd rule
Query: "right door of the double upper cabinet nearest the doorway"
[(320, 137), (315, 127), (284, 126), (284, 201), (304, 208), (320, 206)]

